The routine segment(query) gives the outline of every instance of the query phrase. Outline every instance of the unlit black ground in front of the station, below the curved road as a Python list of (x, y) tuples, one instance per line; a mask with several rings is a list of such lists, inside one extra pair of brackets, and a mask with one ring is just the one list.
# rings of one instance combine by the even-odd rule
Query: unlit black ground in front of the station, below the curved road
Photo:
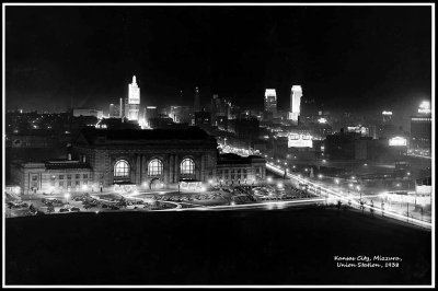
[[(316, 208), (7, 220), (7, 284), (430, 284), (430, 232)], [(399, 256), (336, 268), (334, 256)]]

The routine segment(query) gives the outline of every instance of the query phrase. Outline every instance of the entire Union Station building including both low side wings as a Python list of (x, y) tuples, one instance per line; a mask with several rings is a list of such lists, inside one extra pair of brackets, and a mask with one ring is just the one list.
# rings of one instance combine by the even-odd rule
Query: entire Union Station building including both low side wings
[[(22, 163), (14, 181), (23, 194), (78, 190), (200, 189), (220, 183), (234, 171), (235, 185), (262, 181), (264, 159), (230, 156), (222, 161), (215, 137), (197, 127), (187, 129), (83, 129), (72, 142), (67, 161)], [(239, 159), (239, 158), (235, 158)], [(263, 161), (262, 161), (263, 160)], [(217, 173), (217, 171), (221, 173)], [(219, 174), (219, 175), (218, 175)], [(79, 178), (78, 178), (79, 177)], [(234, 176), (224, 177), (231, 181)]]

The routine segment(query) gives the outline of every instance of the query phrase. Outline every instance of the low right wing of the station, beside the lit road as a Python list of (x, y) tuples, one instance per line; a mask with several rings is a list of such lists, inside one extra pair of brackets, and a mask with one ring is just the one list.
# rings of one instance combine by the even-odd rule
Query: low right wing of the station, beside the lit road
[(266, 160), (262, 156), (246, 158), (234, 153), (219, 155), (217, 183), (222, 185), (260, 184), (266, 178)]

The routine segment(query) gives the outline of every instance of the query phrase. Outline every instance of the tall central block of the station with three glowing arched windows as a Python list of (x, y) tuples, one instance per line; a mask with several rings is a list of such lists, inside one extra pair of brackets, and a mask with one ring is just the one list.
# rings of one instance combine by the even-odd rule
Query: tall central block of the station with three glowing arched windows
[(160, 130), (83, 130), (73, 156), (87, 161), (93, 183), (171, 186), (206, 183), (216, 176), (217, 142), (199, 128)]

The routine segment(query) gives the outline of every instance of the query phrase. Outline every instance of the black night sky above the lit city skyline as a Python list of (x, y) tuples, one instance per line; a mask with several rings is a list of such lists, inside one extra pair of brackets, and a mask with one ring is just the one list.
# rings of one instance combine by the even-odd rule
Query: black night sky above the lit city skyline
[[(211, 94), (262, 109), (292, 84), (328, 109), (403, 114), (431, 95), (430, 7), (7, 7), (7, 107)], [(180, 98), (180, 90), (184, 96)]]

